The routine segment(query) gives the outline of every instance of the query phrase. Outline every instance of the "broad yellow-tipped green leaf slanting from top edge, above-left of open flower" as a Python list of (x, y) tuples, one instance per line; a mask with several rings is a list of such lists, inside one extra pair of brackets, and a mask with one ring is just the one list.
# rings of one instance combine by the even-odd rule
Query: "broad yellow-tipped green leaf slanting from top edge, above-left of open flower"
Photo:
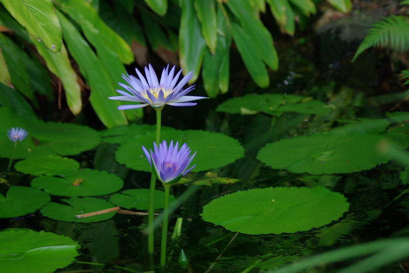
[(115, 52), (125, 64), (133, 61), (132, 50), (126, 41), (103, 22), (90, 4), (82, 0), (55, 0), (55, 3), (81, 26), (85, 37), (97, 52), (104, 47), (105, 50)]

